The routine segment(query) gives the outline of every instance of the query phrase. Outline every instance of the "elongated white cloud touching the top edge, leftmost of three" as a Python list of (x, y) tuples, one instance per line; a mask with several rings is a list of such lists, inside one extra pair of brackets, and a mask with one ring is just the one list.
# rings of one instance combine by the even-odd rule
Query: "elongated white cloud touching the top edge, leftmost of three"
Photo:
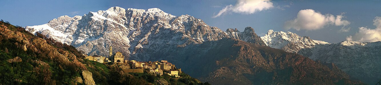
[(238, 0), (235, 5), (227, 5), (221, 9), (217, 15), (219, 17), (226, 12), (236, 12), (242, 14), (253, 14), (257, 11), (262, 11), (274, 7), (270, 0)]

